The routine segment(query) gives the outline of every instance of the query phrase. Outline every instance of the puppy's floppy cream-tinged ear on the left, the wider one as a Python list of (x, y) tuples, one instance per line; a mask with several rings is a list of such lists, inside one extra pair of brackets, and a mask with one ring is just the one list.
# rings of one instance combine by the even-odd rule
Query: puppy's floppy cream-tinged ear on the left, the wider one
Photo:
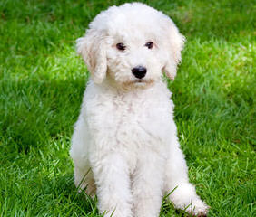
[(76, 51), (83, 57), (95, 83), (101, 83), (107, 71), (103, 38), (101, 31), (88, 29), (84, 37), (76, 40)]

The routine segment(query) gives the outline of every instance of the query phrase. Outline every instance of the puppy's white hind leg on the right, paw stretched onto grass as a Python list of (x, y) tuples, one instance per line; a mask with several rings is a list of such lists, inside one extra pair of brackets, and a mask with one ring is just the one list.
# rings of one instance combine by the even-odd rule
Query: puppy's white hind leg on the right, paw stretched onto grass
[(167, 160), (165, 192), (172, 192), (169, 199), (177, 209), (185, 209), (196, 216), (206, 216), (209, 207), (202, 202), (194, 185), (189, 182), (188, 168), (177, 138), (172, 140)]

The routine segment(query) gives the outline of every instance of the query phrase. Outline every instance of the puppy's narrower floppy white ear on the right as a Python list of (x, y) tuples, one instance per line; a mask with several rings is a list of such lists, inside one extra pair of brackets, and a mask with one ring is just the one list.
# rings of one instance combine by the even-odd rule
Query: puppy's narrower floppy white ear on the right
[(182, 61), (182, 48), (185, 37), (179, 33), (178, 28), (170, 18), (166, 20), (166, 49), (167, 61), (163, 68), (168, 78), (174, 80), (176, 76), (177, 66)]

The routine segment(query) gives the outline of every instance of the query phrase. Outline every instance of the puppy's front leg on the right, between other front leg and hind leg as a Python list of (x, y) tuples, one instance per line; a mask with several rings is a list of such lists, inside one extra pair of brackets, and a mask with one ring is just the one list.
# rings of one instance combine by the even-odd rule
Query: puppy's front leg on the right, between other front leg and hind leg
[(133, 209), (135, 217), (158, 217), (162, 204), (163, 160), (145, 152), (138, 159), (133, 175)]

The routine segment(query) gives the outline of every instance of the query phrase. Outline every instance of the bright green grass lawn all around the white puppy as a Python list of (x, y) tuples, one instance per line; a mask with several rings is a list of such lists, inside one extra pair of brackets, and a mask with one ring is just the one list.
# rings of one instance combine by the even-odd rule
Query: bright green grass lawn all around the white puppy
[[(209, 216), (256, 216), (255, 1), (147, 2), (187, 38), (169, 87), (192, 183)], [(68, 156), (88, 79), (74, 41), (121, 3), (0, 1), (0, 216), (100, 216)]]

